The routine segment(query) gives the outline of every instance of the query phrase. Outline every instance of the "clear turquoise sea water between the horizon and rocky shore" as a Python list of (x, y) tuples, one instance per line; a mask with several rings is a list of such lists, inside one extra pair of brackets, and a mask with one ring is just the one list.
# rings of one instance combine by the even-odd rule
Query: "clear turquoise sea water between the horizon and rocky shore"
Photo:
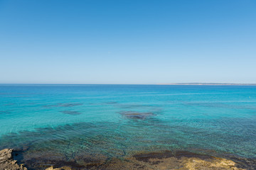
[(0, 149), (23, 162), (166, 149), (256, 158), (256, 86), (0, 85), (0, 116)]

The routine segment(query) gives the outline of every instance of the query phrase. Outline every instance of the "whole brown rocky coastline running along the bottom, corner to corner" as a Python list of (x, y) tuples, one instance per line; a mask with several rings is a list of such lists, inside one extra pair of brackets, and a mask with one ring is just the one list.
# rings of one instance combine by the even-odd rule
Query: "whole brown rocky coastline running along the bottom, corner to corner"
[[(20, 162), (14, 160), (14, 155), (17, 154), (14, 149), (3, 149), (0, 151), (0, 169), (9, 170), (30, 170), (30, 169), (42, 169), (42, 170), (78, 170), (78, 169), (142, 169), (142, 170), (164, 170), (164, 169), (176, 169), (176, 170), (196, 170), (196, 169), (233, 169), (233, 170), (245, 170), (254, 169), (255, 162), (250, 164), (242, 164), (238, 160), (225, 159), (221, 157), (213, 157), (206, 154), (196, 154), (192, 152), (184, 151), (163, 151), (163, 152), (149, 152), (134, 154), (131, 157), (124, 157), (122, 159), (83, 159), (74, 160), (76, 162), (49, 162), (48, 164), (37, 164), (33, 166), (31, 164), (20, 164)], [(38, 158), (35, 162), (40, 162), (43, 158)], [(44, 158), (47, 159), (47, 156)], [(54, 163), (55, 162), (55, 163)], [(250, 167), (251, 166), (251, 167)]]

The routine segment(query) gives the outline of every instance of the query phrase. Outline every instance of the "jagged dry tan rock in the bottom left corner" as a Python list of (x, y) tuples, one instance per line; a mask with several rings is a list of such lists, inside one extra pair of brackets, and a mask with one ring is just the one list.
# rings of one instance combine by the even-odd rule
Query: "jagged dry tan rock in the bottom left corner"
[(3, 149), (0, 151), (0, 169), (3, 170), (27, 170), (23, 164), (17, 164), (11, 152), (13, 149)]

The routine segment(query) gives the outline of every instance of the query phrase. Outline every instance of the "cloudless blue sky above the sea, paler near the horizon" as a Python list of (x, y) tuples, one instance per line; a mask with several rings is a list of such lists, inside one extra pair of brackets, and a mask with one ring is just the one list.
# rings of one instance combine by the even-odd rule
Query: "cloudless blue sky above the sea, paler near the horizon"
[(0, 0), (0, 83), (256, 83), (255, 9), (255, 0)]

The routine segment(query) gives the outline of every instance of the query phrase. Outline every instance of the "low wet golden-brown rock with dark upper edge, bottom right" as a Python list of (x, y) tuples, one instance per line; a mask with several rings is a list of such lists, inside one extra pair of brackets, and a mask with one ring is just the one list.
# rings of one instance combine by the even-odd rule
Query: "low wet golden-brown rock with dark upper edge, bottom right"
[(133, 156), (137, 161), (143, 162), (151, 169), (232, 169), (242, 170), (232, 160), (211, 157), (204, 154), (195, 154), (192, 152), (153, 152), (146, 154), (135, 154)]

